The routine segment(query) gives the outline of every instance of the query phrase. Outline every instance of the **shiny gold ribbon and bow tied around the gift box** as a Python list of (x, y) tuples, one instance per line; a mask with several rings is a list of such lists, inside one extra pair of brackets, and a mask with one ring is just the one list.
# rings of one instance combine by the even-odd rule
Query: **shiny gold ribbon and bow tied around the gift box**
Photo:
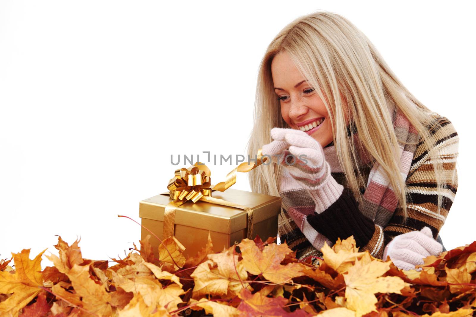
[(268, 157), (264, 157), (261, 149), (258, 150), (255, 163), (244, 162), (239, 164), (235, 169), (227, 174), (224, 182), (220, 182), (211, 188), (210, 169), (207, 165), (197, 162), (188, 168), (180, 168), (175, 170), (175, 176), (170, 179), (167, 189), (169, 190), (170, 198), (173, 200), (169, 202), (164, 211), (164, 227), (163, 239), (167, 239), (174, 235), (175, 228), (175, 212), (176, 208), (181, 204), (191, 201), (205, 201), (218, 205), (235, 207), (247, 211), (248, 215), (248, 232), (247, 238), (252, 240), (253, 233), (253, 209), (242, 206), (234, 202), (228, 202), (223, 199), (211, 197), (212, 191), (224, 192), (236, 183), (236, 173), (247, 173), (252, 169), (258, 167), (263, 162), (266, 162)]

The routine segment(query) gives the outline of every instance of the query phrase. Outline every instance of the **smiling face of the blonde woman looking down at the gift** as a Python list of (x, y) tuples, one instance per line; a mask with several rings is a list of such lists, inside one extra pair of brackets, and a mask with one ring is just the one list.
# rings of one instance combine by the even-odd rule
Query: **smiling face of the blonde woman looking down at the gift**
[(306, 78), (299, 74), (287, 52), (280, 52), (273, 58), (271, 74), (284, 121), (291, 128), (311, 135), (322, 147), (331, 143), (327, 109)]

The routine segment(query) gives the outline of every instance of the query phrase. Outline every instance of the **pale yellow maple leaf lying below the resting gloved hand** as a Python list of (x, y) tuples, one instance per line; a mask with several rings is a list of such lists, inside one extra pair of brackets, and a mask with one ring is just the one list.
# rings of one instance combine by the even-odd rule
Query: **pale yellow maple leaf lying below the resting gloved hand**
[(382, 277), (390, 262), (368, 259), (357, 260), (344, 274), (346, 282), (346, 307), (354, 310), (357, 317), (377, 311), (375, 293), (397, 293), (410, 284), (395, 276)]

